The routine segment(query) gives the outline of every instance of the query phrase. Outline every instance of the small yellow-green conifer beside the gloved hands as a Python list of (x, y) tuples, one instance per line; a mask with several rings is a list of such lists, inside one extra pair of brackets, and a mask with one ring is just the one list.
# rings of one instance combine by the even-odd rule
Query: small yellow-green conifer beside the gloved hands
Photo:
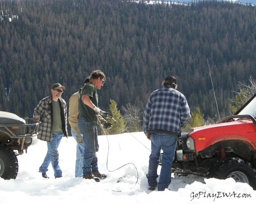
[(109, 105), (110, 112), (113, 114), (113, 119), (108, 120), (112, 123), (112, 128), (109, 129), (109, 134), (120, 134), (125, 131), (126, 122), (124, 118), (122, 117), (120, 110), (117, 108), (117, 103), (110, 99), (110, 105)]

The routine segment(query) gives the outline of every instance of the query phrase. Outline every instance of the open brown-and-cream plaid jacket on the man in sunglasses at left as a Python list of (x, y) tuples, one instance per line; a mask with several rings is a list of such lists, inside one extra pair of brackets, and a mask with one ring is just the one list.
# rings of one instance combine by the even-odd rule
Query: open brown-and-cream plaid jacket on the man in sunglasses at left
[[(59, 98), (61, 107), (61, 122), (63, 134), (67, 137), (67, 105), (63, 98)], [(39, 115), (40, 124), (38, 139), (52, 142), (52, 95), (43, 98), (34, 109), (33, 117)]]

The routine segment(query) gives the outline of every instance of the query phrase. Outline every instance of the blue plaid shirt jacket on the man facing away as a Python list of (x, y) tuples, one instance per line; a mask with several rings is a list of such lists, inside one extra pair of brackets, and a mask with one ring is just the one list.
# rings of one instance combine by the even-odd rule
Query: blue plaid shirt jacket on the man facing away
[(190, 117), (185, 96), (172, 86), (165, 86), (150, 95), (144, 111), (144, 132), (146, 135), (156, 131), (179, 135)]

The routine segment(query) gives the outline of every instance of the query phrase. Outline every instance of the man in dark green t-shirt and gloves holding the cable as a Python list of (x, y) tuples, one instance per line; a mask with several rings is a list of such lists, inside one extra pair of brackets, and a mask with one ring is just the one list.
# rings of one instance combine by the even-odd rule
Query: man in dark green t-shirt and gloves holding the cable
[(78, 112), (80, 114), (77, 126), (83, 135), (84, 143), (84, 167), (83, 178), (94, 179), (99, 182), (106, 178), (98, 170), (97, 155), (95, 151), (95, 137), (97, 137), (97, 115), (111, 119), (112, 114), (98, 108), (97, 89), (101, 89), (106, 77), (100, 70), (93, 71), (89, 76), (90, 82), (84, 85), (79, 99)]

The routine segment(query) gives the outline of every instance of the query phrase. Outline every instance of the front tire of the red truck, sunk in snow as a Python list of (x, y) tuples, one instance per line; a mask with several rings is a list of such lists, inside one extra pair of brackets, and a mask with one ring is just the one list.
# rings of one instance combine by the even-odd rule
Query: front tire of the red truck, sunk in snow
[(217, 162), (208, 173), (208, 178), (233, 178), (236, 182), (247, 183), (256, 190), (256, 173), (249, 162), (240, 158), (225, 158)]

